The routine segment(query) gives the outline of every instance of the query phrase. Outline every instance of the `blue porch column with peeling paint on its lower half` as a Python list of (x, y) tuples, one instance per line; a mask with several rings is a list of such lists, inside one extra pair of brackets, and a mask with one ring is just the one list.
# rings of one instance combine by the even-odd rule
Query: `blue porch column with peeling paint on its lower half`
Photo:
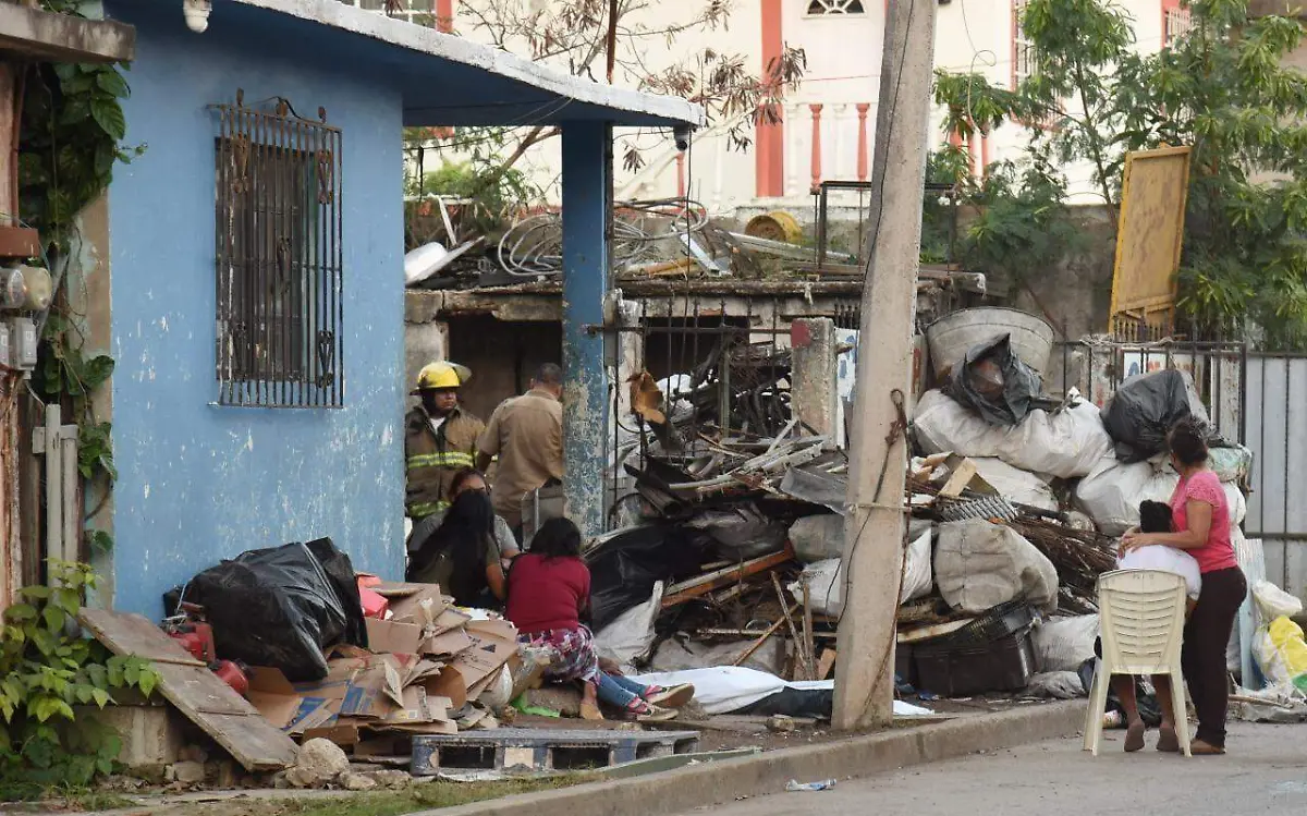
[(563, 493), (582, 535), (604, 531), (608, 382), (604, 296), (613, 199), (613, 128), (563, 123)]

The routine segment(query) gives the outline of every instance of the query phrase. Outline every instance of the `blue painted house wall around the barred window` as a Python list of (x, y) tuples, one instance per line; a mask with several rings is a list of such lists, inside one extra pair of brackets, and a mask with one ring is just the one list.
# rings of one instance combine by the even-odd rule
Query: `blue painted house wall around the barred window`
[[(403, 545), (401, 101), (349, 56), (291, 59), (180, 3), (107, 3), (137, 26), (127, 144), (110, 188), (115, 600), (161, 594), (246, 549), (331, 536), (357, 569), (399, 577)], [(175, 12), (175, 13), (173, 13)], [(311, 43), (295, 43), (302, 48)], [(218, 408), (210, 103), (286, 97), (342, 128), (342, 411)]]

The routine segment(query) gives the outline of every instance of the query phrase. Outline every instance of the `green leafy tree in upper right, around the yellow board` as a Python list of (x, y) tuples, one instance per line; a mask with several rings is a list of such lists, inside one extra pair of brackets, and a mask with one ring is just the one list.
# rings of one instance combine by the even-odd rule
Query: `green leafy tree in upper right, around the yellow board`
[(1031, 163), (1089, 162), (1114, 212), (1127, 152), (1189, 145), (1182, 313), (1204, 333), (1252, 326), (1268, 345), (1307, 347), (1307, 77), (1285, 65), (1302, 25), (1252, 18), (1247, 0), (1188, 9), (1187, 34), (1138, 54), (1110, 3), (1030, 0), (1031, 76), (1013, 93), (938, 75), (945, 127), (1038, 124)]

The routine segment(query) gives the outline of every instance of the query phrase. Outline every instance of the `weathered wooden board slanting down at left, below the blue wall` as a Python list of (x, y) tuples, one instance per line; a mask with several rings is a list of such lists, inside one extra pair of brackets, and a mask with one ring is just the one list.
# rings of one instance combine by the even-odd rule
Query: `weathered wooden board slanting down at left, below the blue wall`
[[(246, 770), (280, 770), (295, 761), (299, 749), (289, 736), (146, 619), (106, 609), (82, 609), (77, 619), (114, 654), (150, 659), (159, 673), (158, 690), (163, 698)], [(178, 660), (176, 653), (184, 662)]]

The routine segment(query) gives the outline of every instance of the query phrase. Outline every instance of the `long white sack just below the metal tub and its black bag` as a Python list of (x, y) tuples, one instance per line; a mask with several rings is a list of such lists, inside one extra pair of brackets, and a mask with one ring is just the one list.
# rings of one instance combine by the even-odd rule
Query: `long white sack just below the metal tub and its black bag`
[(918, 400), (912, 426), (928, 454), (993, 456), (1022, 471), (1061, 479), (1087, 475), (1112, 452), (1098, 408), (1084, 400), (1052, 413), (1035, 409), (1019, 425), (1000, 428), (942, 391), (929, 391)]

